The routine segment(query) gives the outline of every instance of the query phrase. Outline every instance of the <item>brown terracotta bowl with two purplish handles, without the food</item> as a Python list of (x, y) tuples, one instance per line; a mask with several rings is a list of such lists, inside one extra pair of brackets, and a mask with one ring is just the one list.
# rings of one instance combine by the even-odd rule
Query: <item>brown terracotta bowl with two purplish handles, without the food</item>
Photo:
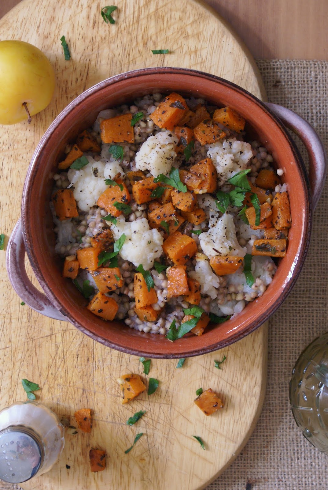
[[(132, 101), (144, 94), (170, 91), (202, 97), (218, 106), (227, 105), (246, 119), (252, 137), (267, 147), (279, 168), (284, 169), (283, 180), (288, 185), (292, 217), (286, 256), (280, 260), (273, 281), (262, 297), (249, 303), (237, 318), (208, 328), (200, 337), (188, 334), (174, 343), (161, 335), (132, 330), (123, 322), (104, 321), (85, 308), (87, 300), (71, 281), (62, 277), (62, 261), (54, 251), (55, 235), (49, 210), (52, 176), (67, 142), (74, 141), (78, 133), (90, 127), (102, 109)], [(284, 118), (283, 111), (281, 108), (280, 115)], [(288, 111), (287, 120), (292, 126), (298, 125), (299, 131), (303, 131), (303, 138), (308, 140), (312, 190), (304, 163), (283, 123), (264, 103), (227, 80), (194, 70), (151, 68), (123, 73), (90, 88), (55, 119), (31, 160), (22, 196), (22, 231), (18, 223), (7, 251), (7, 269), (14, 288), (27, 304), (41, 313), (66, 319), (92, 339), (109, 347), (145, 357), (196, 356), (217, 350), (253, 332), (276, 311), (295, 284), (310, 239), (312, 191), (313, 200), (317, 201), (325, 174), (325, 156), (320, 140), (314, 132), (311, 133), (313, 130), (307, 123), (291, 114)], [(300, 129), (303, 123), (306, 127)], [(26, 274), (22, 274), (24, 247), (48, 299), (32, 287)]]

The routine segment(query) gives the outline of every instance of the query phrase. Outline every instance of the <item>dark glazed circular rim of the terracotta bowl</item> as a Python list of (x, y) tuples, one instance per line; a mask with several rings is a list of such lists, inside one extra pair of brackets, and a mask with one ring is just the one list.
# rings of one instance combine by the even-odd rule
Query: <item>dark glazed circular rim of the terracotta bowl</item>
[[(97, 92), (99, 89), (104, 89), (110, 85), (114, 85), (116, 83), (121, 82), (122, 80), (126, 79), (129, 80), (131, 78), (135, 77), (140, 77), (140, 76), (147, 76), (149, 74), (158, 74), (158, 73), (170, 73), (170, 74), (188, 74), (188, 75), (193, 75), (197, 76), (199, 78), (206, 78), (208, 80), (214, 81), (214, 82), (219, 82), (222, 85), (228, 86), (229, 88), (232, 88), (238, 92), (241, 93), (243, 97), (246, 97), (250, 99), (252, 102), (255, 102), (264, 113), (266, 113), (267, 116), (269, 116), (273, 122), (279, 127), (281, 132), (284, 134), (284, 137), (286, 138), (287, 142), (290, 145), (291, 151), (293, 153), (295, 162), (297, 163), (297, 168), (299, 171), (299, 175), (301, 177), (301, 180), (304, 183), (304, 186), (306, 188), (306, 193), (304, 194), (305, 201), (306, 201), (306, 209), (305, 215), (305, 232), (304, 232), (304, 240), (301, 241), (300, 244), (300, 249), (297, 257), (297, 261), (295, 264), (295, 267), (291, 273), (291, 276), (288, 277), (288, 281), (285, 282), (284, 284), (284, 289), (283, 292), (279, 295), (279, 297), (271, 304), (271, 306), (265, 310), (260, 316), (258, 316), (256, 319), (253, 319), (253, 321), (249, 324), (248, 328), (243, 329), (241, 332), (237, 332), (236, 334), (231, 335), (228, 339), (225, 341), (219, 341), (219, 343), (214, 343), (210, 344), (209, 346), (206, 347), (201, 347), (201, 348), (196, 348), (194, 350), (191, 350), (190, 348), (185, 351), (181, 352), (179, 351), (178, 354), (174, 353), (163, 353), (163, 352), (148, 352), (148, 351), (142, 351), (142, 350), (135, 350), (131, 347), (126, 347), (122, 346), (120, 344), (116, 344), (114, 342), (109, 341), (108, 339), (102, 337), (101, 335), (98, 335), (94, 332), (91, 332), (88, 330), (86, 327), (81, 325), (77, 320), (75, 320), (71, 313), (66, 310), (64, 305), (59, 301), (57, 296), (53, 294), (52, 290), (48, 286), (44, 274), (42, 270), (39, 267), (37, 257), (34, 253), (34, 249), (31, 246), (31, 240), (29, 238), (29, 220), (28, 220), (28, 202), (30, 198), (30, 192), (29, 189), (31, 187), (31, 184), (35, 178), (35, 175), (38, 171), (37, 168), (37, 162), (40, 154), (43, 151), (44, 146), (46, 145), (47, 141), (50, 139), (53, 130), (57, 128), (60, 123), (66, 118), (67, 114), (69, 114), (72, 110), (78, 108), (81, 104), (83, 104), (84, 100), (88, 98), (90, 95), (94, 94)], [(196, 91), (196, 90), (195, 90)], [(91, 337), (93, 340), (100, 342), (110, 348), (114, 348), (116, 350), (132, 354), (132, 355), (137, 355), (137, 356), (144, 356), (144, 357), (153, 357), (153, 358), (163, 358), (163, 359), (172, 359), (172, 358), (181, 358), (181, 357), (193, 357), (193, 356), (198, 356), (202, 354), (206, 354), (209, 352), (213, 352), (215, 350), (218, 350), (220, 348), (226, 347), (232, 343), (237, 342), (238, 340), (241, 340), (244, 338), (246, 335), (249, 335), (253, 331), (255, 331), (257, 328), (259, 328), (262, 323), (264, 323), (271, 315), (279, 308), (279, 306), (284, 302), (288, 294), (290, 293), (291, 289), (293, 288), (296, 279), (298, 278), (304, 261), (306, 259), (306, 254), (310, 242), (310, 234), (311, 234), (311, 226), (312, 226), (312, 203), (311, 203), (311, 191), (310, 191), (310, 185), (309, 185), (309, 179), (308, 175), (306, 172), (306, 167), (304, 165), (302, 156), (296, 147), (294, 141), (290, 137), (290, 135), (287, 132), (286, 127), (284, 124), (279, 120), (279, 118), (260, 100), (259, 98), (255, 97), (239, 85), (236, 85), (233, 82), (230, 82), (229, 80), (226, 80), (224, 78), (221, 78), (217, 75), (213, 75), (210, 73), (204, 73), (198, 70), (193, 70), (193, 69), (187, 69), (187, 68), (173, 68), (173, 67), (160, 67), (160, 68), (144, 68), (144, 69), (138, 69), (138, 70), (132, 70), (129, 72), (124, 72), (120, 73), (118, 75), (114, 75), (112, 77), (109, 77), (105, 80), (102, 80), (101, 82), (98, 82), (97, 84), (93, 85), (92, 87), (88, 88), (86, 91), (84, 91), (82, 94), (77, 96), (74, 100), (72, 100), (61, 112), (60, 114), (55, 118), (55, 120), (50, 124), (48, 129), (45, 131), (43, 137), (41, 138), (38, 146), (36, 147), (34, 154), (31, 158), (24, 187), (23, 187), (23, 193), (22, 193), (22, 206), (21, 206), (21, 215), (22, 215), (22, 233), (23, 233), (23, 240), (24, 240), (24, 245), (26, 249), (26, 253), (28, 256), (28, 259), (31, 263), (32, 269), (41, 284), (41, 287), (44, 290), (44, 293), (46, 296), (49, 298), (49, 300), (54, 304), (54, 306), (63, 314), (67, 317), (67, 321), (70, 321), (76, 328), (78, 328), (81, 332), (85, 333), (89, 337)], [(143, 335), (153, 335), (153, 334), (144, 334)]]

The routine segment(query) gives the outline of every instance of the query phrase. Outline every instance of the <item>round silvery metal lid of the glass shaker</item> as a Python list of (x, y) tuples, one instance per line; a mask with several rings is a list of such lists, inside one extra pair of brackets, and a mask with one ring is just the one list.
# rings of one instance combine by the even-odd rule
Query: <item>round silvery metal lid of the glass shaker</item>
[(0, 431), (0, 480), (26, 482), (42, 466), (44, 447), (29, 427), (11, 425)]

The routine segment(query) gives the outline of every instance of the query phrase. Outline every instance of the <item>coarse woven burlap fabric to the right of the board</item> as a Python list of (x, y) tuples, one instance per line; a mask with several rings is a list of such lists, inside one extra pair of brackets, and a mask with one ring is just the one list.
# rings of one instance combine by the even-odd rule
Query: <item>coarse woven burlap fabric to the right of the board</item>
[[(303, 116), (328, 149), (328, 62), (259, 60), (258, 66), (268, 100)], [(306, 161), (306, 151), (299, 147)], [(206, 490), (328, 489), (328, 457), (304, 439), (288, 399), (299, 354), (328, 330), (327, 243), (326, 184), (314, 213), (306, 264), (292, 293), (270, 319), (267, 392), (259, 422), (233, 465)], [(0, 483), (0, 490), (9, 489), (20, 487)]]

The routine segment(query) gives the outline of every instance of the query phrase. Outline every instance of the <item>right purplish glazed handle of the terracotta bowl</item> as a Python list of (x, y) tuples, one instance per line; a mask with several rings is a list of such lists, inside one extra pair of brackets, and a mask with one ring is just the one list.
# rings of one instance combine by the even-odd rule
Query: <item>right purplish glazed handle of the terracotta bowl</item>
[(319, 197), (325, 184), (327, 172), (327, 155), (325, 147), (318, 134), (301, 116), (286, 109), (282, 105), (265, 102), (265, 105), (271, 109), (284, 125), (296, 134), (306, 147), (310, 161), (310, 170), (308, 173), (312, 191), (313, 209), (318, 204)]

